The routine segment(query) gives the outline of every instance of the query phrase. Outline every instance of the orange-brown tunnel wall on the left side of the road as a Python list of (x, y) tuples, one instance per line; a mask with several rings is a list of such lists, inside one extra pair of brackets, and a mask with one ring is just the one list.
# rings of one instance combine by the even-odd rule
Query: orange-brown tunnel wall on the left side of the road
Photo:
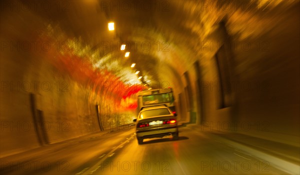
[(95, 91), (78, 80), (84, 74), (65, 71), (53, 61), (60, 50), (38, 37), (47, 27), (42, 18), (23, 10), (1, 15), (6, 16), (1, 17), (0, 32), (1, 157), (110, 129), (132, 117), (115, 110), (118, 104), (109, 89), (106, 94)]

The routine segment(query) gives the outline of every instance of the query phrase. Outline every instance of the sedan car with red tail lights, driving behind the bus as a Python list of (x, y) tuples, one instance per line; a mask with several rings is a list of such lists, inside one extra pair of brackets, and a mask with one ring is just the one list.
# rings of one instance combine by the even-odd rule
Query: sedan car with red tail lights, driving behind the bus
[(166, 135), (178, 139), (176, 116), (164, 105), (143, 108), (137, 118), (133, 119), (137, 143), (142, 144), (145, 138), (162, 138)]

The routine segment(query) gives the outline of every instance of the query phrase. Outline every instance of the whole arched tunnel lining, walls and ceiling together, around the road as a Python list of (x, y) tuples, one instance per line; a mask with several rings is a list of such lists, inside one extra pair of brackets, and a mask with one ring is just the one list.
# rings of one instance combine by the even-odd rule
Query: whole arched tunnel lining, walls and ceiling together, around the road
[[(115, 85), (137, 78), (129, 67), (129, 60), (132, 60), (138, 68), (149, 72), (148, 77), (154, 82), (170, 82), (180, 106), (181, 119), (186, 122), (190, 121), (188, 112), (195, 112), (192, 116), (199, 127), (204, 122), (239, 121), (255, 128), (258, 124), (260, 129), (267, 130), (239, 131), (298, 146), (299, 53), (295, 51), (299, 47), (298, 1), (266, 0), (265, 4), (257, 4), (258, 1), (245, 0), (242, 2), (250, 6), (249, 9), (237, 5), (224, 11), (211, 8), (220, 0), (179, 0), (168, 1), (167, 11), (108, 12), (101, 10), (98, 2), (70, 2), (69, 11), (57, 13), (1, 10), (2, 123), (32, 121), (30, 94), (36, 99), (34, 108), (42, 111), (40, 117), (45, 121), (53, 126), (57, 121), (69, 124), (68, 132), (48, 131), (49, 143), (98, 131), (95, 105), (99, 106), (98, 114), (106, 124), (116, 120), (131, 121), (134, 94), (141, 84), (137, 84), (139, 88), (131, 86), (128, 90), (118, 90)], [(233, 3), (232, 0), (225, 2), (228, 3), (222, 5)], [(144, 13), (137, 16), (139, 12)], [(113, 19), (116, 31), (108, 32), (107, 22)], [(131, 56), (136, 57), (129, 56), (126, 61), (122, 51), (111, 51), (110, 47), (101, 45), (105, 41), (126, 40), (153, 41), (153, 44), (167, 41), (169, 50), (132, 50)], [(21, 45), (24, 41), (31, 43), (29, 50)], [(52, 49), (44, 50), (37, 42), (35, 49), (32, 41), (46, 42)], [(230, 49), (219, 52), (226, 41), (232, 44)], [(57, 43), (60, 44), (58, 49)], [(250, 48), (242, 47), (249, 43)], [(67, 50), (63, 50), (65, 48)], [(227, 68), (227, 73), (217, 73), (215, 55), (219, 54), (227, 56), (223, 56), (225, 61), (218, 56), (222, 59), (220, 62), (226, 63), (223, 69)], [(103, 67), (95, 66), (98, 61)], [(148, 67), (149, 62), (152, 65)], [(225, 81), (237, 81), (238, 88), (220, 95), (220, 91), (215, 90), (217, 85), (215, 88), (213, 85), (220, 81), (221, 75), (225, 76)], [(38, 86), (35, 90), (32, 81), (38, 81), (39, 85), (49, 83), (52, 89)], [(107, 81), (112, 82), (112, 87), (103, 84)], [(31, 84), (29, 90), (20, 86), (24, 82)], [(63, 91), (64, 83), (68, 91)], [(189, 90), (184, 90), (187, 85)], [(226, 101), (226, 95), (231, 98), (228, 105), (218, 105), (219, 96)], [(187, 100), (191, 108), (185, 106)], [(4, 129), (1, 138), (11, 144), (1, 144), (3, 155), (40, 146), (34, 130), (23, 133)], [(15, 137), (19, 139), (13, 139)]]

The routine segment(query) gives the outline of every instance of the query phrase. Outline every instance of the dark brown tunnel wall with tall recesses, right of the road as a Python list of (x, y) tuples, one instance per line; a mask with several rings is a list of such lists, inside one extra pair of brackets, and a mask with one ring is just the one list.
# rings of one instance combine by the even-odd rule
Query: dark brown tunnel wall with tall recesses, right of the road
[[(273, 12), (244, 14), (243, 25), (248, 27), (243, 32), (252, 32), (247, 37), (232, 30), (241, 22), (232, 16), (216, 23), (216, 29), (202, 40), (204, 46), (198, 51), (205, 54), (196, 60), (200, 86), (192, 62), (187, 68), (192, 93), (203, 98), (202, 114), (197, 108), (191, 109), (197, 111), (202, 130), (238, 132), (299, 146), (300, 55), (295, 51), (300, 46), (296, 39), (299, 15), (295, 15), (299, 12), (291, 7), (282, 12), (282, 18), (275, 18)], [(272, 21), (271, 32), (255, 28), (250, 19)], [(189, 98), (194, 106), (199, 105), (193, 96)]]

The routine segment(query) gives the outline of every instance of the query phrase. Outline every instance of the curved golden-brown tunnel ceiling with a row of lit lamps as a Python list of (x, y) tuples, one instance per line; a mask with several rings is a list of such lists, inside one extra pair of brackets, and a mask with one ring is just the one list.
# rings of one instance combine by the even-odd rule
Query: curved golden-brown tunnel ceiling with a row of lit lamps
[[(242, 1), (245, 2), (242, 5), (249, 6), (246, 12), (238, 10), (241, 4), (236, 5), (237, 10), (210, 10), (215, 3), (226, 2), (223, 3), (225, 7), (233, 3), (232, 0), (66, 2), (66, 10), (32, 11), (44, 22), (45, 28), (36, 29), (39, 37), (66, 40), (67, 48), (82, 59), (81, 63), (89, 64), (94, 71), (105, 70), (121, 81), (137, 81), (138, 76), (143, 76), (143, 84), (169, 81), (170, 86), (180, 85), (178, 76), (190, 68), (196, 59), (209, 54), (200, 51), (200, 40), (210, 38), (209, 34), (218, 27), (217, 23), (227, 16), (230, 16), (226, 18), (229, 34), (240, 38), (263, 34), (259, 27), (247, 30), (243, 25), (243, 20), (250, 18), (247, 15), (253, 15), (257, 5), (264, 5), (257, 0)], [(289, 0), (267, 2), (269, 9), (278, 7), (278, 4), (287, 6), (294, 3)], [(56, 1), (49, 3), (55, 6)], [(253, 17), (251, 19), (255, 20)], [(115, 23), (114, 31), (108, 31), (109, 21)], [(261, 19), (253, 22), (263, 25), (264, 31), (271, 29)], [(127, 58), (119, 49), (122, 42), (130, 43), (130, 49), (126, 48), (130, 51)], [(144, 45), (141, 45), (143, 42)], [(133, 68), (130, 67), (132, 63), (136, 63)], [(138, 75), (135, 74), (137, 70), (140, 71)]]

